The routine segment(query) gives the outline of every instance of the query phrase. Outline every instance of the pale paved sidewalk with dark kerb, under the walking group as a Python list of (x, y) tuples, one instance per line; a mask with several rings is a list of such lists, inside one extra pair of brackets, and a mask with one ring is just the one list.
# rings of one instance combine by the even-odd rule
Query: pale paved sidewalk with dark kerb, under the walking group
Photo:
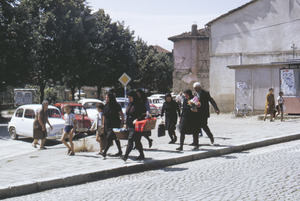
[[(138, 151), (134, 150), (126, 163), (116, 157), (108, 156), (103, 160), (96, 155), (99, 145), (95, 142), (95, 136), (86, 138), (88, 146), (93, 147), (94, 151), (78, 152), (75, 156), (68, 156), (62, 144), (49, 146), (43, 151), (32, 148), (30, 153), (0, 160), (0, 199), (297, 140), (300, 139), (299, 123), (300, 119), (264, 122), (258, 120), (258, 116), (232, 119), (230, 114), (212, 114), (209, 127), (215, 136), (214, 146), (210, 145), (209, 138), (204, 134), (199, 138), (199, 150), (194, 151), (192, 146), (188, 146), (192, 143), (192, 136), (187, 135), (183, 152), (178, 152), (175, 149), (179, 146), (179, 140), (175, 145), (168, 144), (168, 135), (158, 138), (157, 130), (154, 130), (152, 148), (149, 149), (148, 142), (142, 139), (146, 160), (135, 161)], [(179, 139), (178, 131), (177, 136)], [(82, 141), (75, 143), (80, 146)], [(23, 143), (31, 146), (30, 142)], [(123, 152), (126, 144), (127, 141), (121, 141)], [(111, 154), (116, 152), (116, 146), (109, 150)]]

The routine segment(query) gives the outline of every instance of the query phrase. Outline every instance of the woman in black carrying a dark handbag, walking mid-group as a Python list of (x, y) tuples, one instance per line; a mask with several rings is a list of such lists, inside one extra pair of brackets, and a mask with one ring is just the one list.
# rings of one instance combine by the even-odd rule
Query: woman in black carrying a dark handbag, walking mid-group
[(178, 116), (180, 117), (180, 109), (179, 109), (179, 105), (177, 104), (177, 102), (173, 100), (170, 93), (166, 93), (165, 100), (166, 101), (164, 102), (161, 109), (161, 117), (163, 117), (164, 113), (166, 113), (165, 126), (171, 138), (169, 144), (174, 144), (177, 141), (175, 129), (177, 124), (177, 113)]

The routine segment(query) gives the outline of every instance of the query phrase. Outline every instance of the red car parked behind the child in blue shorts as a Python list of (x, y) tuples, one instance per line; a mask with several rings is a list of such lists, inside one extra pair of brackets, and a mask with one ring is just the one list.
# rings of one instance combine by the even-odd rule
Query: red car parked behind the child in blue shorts
[(75, 134), (80, 134), (80, 133), (88, 133), (90, 134), (92, 123), (91, 119), (87, 116), (87, 112), (85, 110), (85, 107), (81, 104), (78, 103), (56, 103), (54, 106), (57, 107), (63, 118), (64, 118), (64, 106), (69, 104), (72, 108), (72, 113), (75, 114), (75, 118), (77, 120), (77, 125), (76, 125), (76, 133)]

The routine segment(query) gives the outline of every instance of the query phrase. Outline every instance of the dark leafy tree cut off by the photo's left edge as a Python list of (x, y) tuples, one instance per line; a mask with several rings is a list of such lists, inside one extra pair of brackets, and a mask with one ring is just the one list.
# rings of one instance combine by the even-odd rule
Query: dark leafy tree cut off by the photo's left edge
[(0, 1), (0, 91), (28, 79), (29, 27), (17, 1)]

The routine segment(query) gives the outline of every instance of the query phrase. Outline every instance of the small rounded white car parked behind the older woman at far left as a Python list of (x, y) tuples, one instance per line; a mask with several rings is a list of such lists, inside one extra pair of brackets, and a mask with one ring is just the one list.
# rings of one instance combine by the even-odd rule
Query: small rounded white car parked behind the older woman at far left
[[(33, 138), (33, 122), (40, 109), (42, 109), (40, 104), (23, 105), (17, 108), (7, 127), (13, 140), (18, 139), (19, 136)], [(50, 130), (50, 126), (46, 124), (47, 139), (60, 139), (65, 125), (60, 111), (49, 105), (48, 119), (53, 130)]]

